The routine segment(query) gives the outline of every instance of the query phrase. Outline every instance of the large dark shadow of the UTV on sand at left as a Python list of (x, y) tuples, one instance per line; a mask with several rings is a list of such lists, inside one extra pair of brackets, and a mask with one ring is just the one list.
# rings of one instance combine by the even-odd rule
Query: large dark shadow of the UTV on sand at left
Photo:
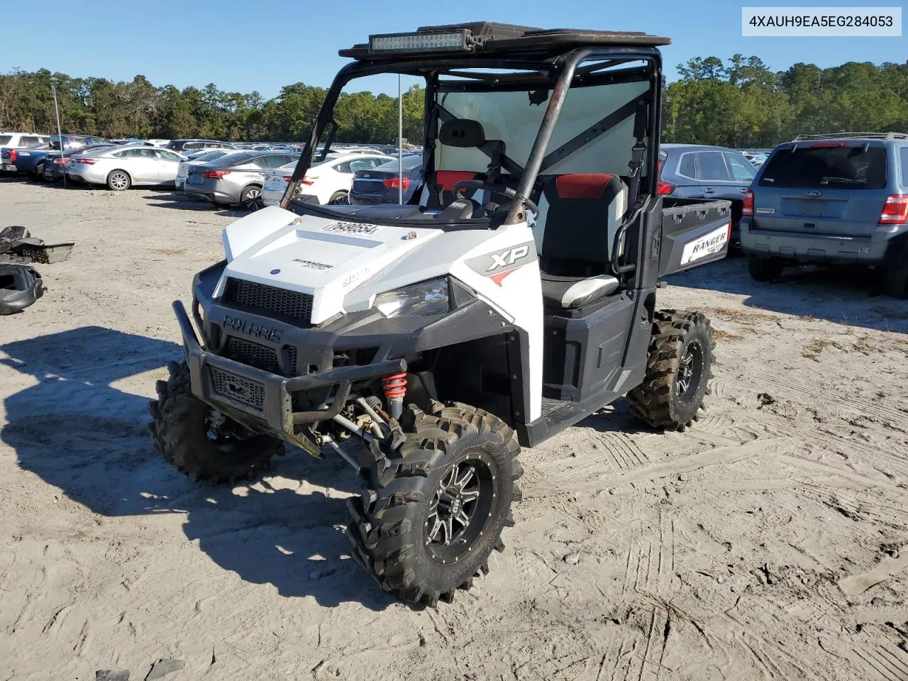
[(33, 379), (11, 381), (27, 387), (5, 398), (0, 439), (51, 486), (48, 497), (59, 490), (106, 517), (181, 514), (186, 538), (249, 582), (325, 607), (393, 603), (350, 560), (345, 496), (356, 477), (342, 461), (290, 450), (271, 476), (231, 489), (193, 483), (157, 455), (148, 398), (130, 390), (138, 374), (181, 353), (173, 342), (101, 327), (0, 344), (0, 370)]

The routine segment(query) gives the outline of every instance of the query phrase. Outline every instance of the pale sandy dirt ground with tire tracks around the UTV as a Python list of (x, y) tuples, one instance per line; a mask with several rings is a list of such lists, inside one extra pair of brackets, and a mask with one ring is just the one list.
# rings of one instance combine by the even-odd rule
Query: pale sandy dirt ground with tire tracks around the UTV
[(0, 182), (0, 227), (77, 242), (0, 319), (0, 681), (908, 678), (908, 304), (738, 259), (676, 277), (661, 306), (717, 331), (705, 419), (619, 402), (525, 451), (489, 576), (415, 610), (348, 556), (342, 461), (216, 489), (153, 452), (170, 302), (235, 217)]

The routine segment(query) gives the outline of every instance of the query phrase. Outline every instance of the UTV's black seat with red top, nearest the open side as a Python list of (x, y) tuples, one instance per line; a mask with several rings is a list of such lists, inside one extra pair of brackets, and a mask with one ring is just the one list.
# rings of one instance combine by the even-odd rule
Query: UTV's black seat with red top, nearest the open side
[(611, 173), (574, 173), (542, 185), (533, 235), (547, 308), (576, 310), (617, 291), (612, 246), (627, 210), (627, 185)]

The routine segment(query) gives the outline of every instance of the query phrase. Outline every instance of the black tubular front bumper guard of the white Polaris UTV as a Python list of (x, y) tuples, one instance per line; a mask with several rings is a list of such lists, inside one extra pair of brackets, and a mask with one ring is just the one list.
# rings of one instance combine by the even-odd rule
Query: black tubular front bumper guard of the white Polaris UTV
[[(350, 396), (350, 386), (360, 380), (407, 370), (403, 359), (386, 360), (361, 366), (322, 370), (288, 378), (255, 369), (202, 350), (192, 322), (181, 301), (173, 302), (183, 335), (183, 348), (189, 365), (192, 394), (241, 422), (252, 422), (272, 433), (306, 447), (294, 426), (332, 419)], [(293, 409), (294, 393), (329, 389), (331, 403), (317, 410)]]

